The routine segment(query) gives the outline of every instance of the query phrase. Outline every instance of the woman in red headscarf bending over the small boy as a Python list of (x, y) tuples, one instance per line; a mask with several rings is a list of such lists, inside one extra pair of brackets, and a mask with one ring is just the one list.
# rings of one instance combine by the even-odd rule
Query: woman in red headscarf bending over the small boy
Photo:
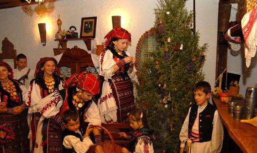
[[(61, 116), (62, 112), (67, 109), (77, 109), (79, 112), (80, 128), (82, 136), (85, 134), (87, 126), (101, 125), (99, 111), (95, 102), (92, 101), (94, 95), (99, 93), (100, 83), (94, 74), (81, 72), (80, 74), (72, 75), (67, 81), (64, 82), (66, 89), (58, 90), (43, 98), (37, 105), (42, 117), (38, 123), (36, 133), (36, 144), (43, 144), (48, 149), (48, 153), (63, 153), (63, 136), (64, 123), (61, 118), (58, 118), (58, 123), (55, 126), (44, 125), (44, 120), (56, 118)], [(52, 127), (55, 133), (47, 133), (46, 128)], [(98, 128), (93, 129), (95, 137), (96, 153), (103, 153), (101, 143), (101, 133)], [(44, 140), (44, 138), (47, 138)], [(60, 139), (58, 139), (60, 138)], [(50, 147), (49, 144), (54, 143), (58, 150), (51, 150), (56, 148)], [(34, 153), (42, 153), (45, 149), (39, 146)], [(45, 153), (45, 152), (44, 152)]]

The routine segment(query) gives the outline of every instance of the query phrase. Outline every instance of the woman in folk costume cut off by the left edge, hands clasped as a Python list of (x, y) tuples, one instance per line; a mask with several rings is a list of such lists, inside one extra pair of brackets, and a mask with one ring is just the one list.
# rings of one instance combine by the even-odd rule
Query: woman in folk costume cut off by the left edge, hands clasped
[[(0, 153), (29, 153), (24, 102), (27, 98), (27, 91), (23, 88), (16, 80), (13, 80), (10, 65), (0, 62), (0, 126), (9, 124), (8, 127), (14, 132), (14, 140), (6, 144), (0, 143)], [(1, 132), (0, 137), (3, 135)]]

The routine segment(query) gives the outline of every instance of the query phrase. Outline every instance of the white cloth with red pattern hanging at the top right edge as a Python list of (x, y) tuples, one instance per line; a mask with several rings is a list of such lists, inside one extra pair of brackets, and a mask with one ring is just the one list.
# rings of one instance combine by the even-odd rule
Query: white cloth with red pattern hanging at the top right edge
[(251, 59), (255, 57), (257, 46), (257, 6), (246, 13), (241, 20), (242, 31), (245, 39), (246, 66), (249, 67)]

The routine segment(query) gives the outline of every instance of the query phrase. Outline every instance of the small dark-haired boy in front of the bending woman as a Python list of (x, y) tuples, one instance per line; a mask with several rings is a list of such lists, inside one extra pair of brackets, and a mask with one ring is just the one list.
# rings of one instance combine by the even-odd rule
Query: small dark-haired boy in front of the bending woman
[(89, 126), (85, 135), (82, 137), (79, 130), (79, 113), (75, 109), (69, 109), (63, 112), (63, 122), (65, 124), (65, 130), (63, 132), (63, 146), (64, 153), (86, 153), (93, 142), (89, 138), (89, 134), (92, 129)]

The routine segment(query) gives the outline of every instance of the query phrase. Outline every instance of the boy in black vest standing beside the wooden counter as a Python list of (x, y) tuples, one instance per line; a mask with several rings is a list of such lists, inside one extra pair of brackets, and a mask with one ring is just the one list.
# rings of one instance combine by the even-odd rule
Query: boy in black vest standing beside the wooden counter
[(188, 140), (192, 141), (190, 153), (220, 153), (223, 142), (223, 125), (219, 112), (208, 102), (211, 86), (208, 82), (198, 82), (194, 86), (196, 105), (189, 108), (181, 128), (180, 153), (186, 148)]

